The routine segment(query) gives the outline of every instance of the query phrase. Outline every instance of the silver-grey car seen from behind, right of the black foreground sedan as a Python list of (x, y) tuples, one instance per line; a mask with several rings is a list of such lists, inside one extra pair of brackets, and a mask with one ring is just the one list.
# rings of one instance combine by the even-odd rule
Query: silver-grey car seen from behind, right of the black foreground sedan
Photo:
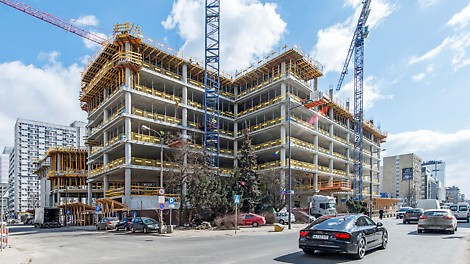
[(457, 231), (457, 218), (449, 209), (429, 209), (424, 211), (418, 221), (418, 233), (427, 230)]

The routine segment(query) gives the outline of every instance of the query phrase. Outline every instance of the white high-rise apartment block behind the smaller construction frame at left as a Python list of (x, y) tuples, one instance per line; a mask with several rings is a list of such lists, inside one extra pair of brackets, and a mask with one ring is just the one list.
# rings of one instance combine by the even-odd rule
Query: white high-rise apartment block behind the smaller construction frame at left
[(25, 212), (39, 206), (39, 179), (34, 174), (34, 161), (42, 157), (49, 147), (76, 147), (84, 139), (84, 122), (73, 122), (70, 126), (40, 121), (17, 119), (15, 143), (10, 155), (9, 211)]

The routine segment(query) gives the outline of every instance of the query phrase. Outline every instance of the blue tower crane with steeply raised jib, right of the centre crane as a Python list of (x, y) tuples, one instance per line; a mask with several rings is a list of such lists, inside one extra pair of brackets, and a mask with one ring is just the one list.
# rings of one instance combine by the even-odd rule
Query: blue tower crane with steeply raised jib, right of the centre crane
[[(362, 200), (362, 150), (363, 150), (363, 71), (364, 71), (364, 39), (369, 34), (368, 27), (365, 25), (370, 13), (370, 1), (362, 1), (362, 11), (357, 21), (348, 55), (344, 62), (343, 70), (339, 78), (336, 91), (341, 89), (344, 76), (347, 74), (349, 61), (354, 52), (354, 179), (353, 190), (354, 199)], [(370, 179), (372, 180), (372, 179)]]

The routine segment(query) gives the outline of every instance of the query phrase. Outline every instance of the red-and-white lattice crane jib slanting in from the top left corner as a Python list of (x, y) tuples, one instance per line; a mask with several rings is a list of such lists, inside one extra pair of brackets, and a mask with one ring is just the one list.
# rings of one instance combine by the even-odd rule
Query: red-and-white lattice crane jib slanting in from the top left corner
[(106, 39), (102, 38), (96, 34), (93, 34), (89, 31), (86, 31), (84, 29), (81, 29), (67, 21), (64, 21), (60, 18), (57, 18), (51, 14), (48, 14), (46, 12), (40, 11), (35, 9), (34, 7), (28, 6), (20, 1), (13, 1), (13, 0), (0, 0), (0, 3), (5, 4), (7, 6), (13, 7), (21, 12), (24, 12), (28, 15), (31, 15), (35, 18), (41, 19), (43, 21), (46, 21), (47, 23), (50, 23), (56, 27), (65, 29), (68, 32), (72, 32), (73, 34), (76, 34), (82, 38), (88, 39), (90, 41), (93, 41), (97, 44), (103, 44)]

